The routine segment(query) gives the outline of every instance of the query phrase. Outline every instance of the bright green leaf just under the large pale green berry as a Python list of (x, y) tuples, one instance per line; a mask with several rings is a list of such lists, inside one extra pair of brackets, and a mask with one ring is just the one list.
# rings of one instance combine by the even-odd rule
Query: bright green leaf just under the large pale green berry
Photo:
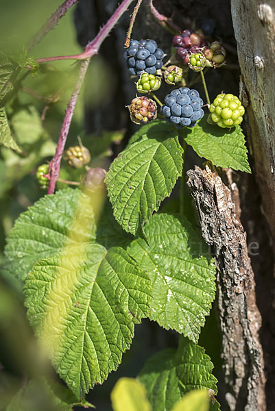
[(251, 173), (241, 127), (237, 125), (232, 129), (222, 129), (208, 124), (205, 117), (192, 129), (185, 127), (180, 132), (187, 144), (191, 145), (200, 157), (211, 160), (215, 166)]

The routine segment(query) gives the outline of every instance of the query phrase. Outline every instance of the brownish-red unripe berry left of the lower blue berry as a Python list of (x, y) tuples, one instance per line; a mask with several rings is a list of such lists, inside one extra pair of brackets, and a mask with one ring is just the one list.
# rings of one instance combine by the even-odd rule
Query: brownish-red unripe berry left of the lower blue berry
[(158, 114), (156, 103), (147, 96), (132, 99), (128, 109), (131, 114), (131, 120), (136, 124), (146, 124), (156, 119)]

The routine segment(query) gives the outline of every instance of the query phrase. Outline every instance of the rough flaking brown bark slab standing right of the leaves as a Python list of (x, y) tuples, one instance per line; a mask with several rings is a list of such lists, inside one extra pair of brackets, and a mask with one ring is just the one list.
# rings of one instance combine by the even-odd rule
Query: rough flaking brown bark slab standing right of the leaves
[(187, 175), (202, 236), (218, 270), (226, 401), (230, 411), (265, 411), (261, 315), (246, 233), (237, 219), (230, 189), (215, 172), (208, 166), (205, 171), (195, 166)]

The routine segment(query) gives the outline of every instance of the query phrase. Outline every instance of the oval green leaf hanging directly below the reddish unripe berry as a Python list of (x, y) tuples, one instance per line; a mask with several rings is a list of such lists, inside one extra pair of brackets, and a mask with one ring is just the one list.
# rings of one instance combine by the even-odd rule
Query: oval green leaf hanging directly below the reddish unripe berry
[(182, 173), (182, 147), (175, 127), (157, 121), (141, 127), (106, 175), (115, 219), (126, 232), (141, 234)]

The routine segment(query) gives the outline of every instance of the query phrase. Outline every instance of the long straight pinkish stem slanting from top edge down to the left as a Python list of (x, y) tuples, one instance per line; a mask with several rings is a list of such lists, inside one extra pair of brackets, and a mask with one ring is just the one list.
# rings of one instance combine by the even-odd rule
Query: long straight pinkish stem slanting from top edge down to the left
[(77, 97), (80, 94), (80, 88), (82, 86), (82, 82), (86, 75), (86, 71), (88, 69), (90, 58), (92, 57), (92, 55), (98, 52), (99, 47), (101, 46), (101, 43), (108, 36), (112, 28), (115, 26), (115, 24), (117, 23), (121, 15), (125, 12), (125, 10), (127, 10), (128, 6), (130, 5), (130, 3), (132, 3), (132, 1), (133, 0), (123, 0), (123, 2), (119, 5), (117, 10), (115, 10), (114, 14), (112, 14), (112, 16), (109, 18), (108, 22), (99, 30), (99, 33), (97, 34), (97, 36), (95, 36), (95, 38), (91, 42), (88, 42), (88, 44), (85, 47), (84, 53), (82, 53), (82, 55), (86, 55), (86, 57), (83, 57), (85, 60), (84, 62), (82, 62), (82, 66), (80, 68), (80, 74), (77, 79), (77, 83), (75, 84), (73, 94), (71, 95), (71, 99), (69, 100), (69, 103), (67, 105), (66, 114), (64, 117), (61, 131), (60, 131), (60, 136), (58, 139), (58, 145), (56, 147), (56, 153), (53, 156), (53, 159), (51, 160), (51, 162), (49, 163), (50, 181), (49, 181), (48, 194), (53, 194), (54, 189), (56, 187), (56, 181), (58, 179), (59, 171), (60, 171), (61, 158), (62, 158), (64, 147), (66, 144), (67, 136), (69, 133), (69, 128), (71, 126), (71, 120), (73, 118), (75, 104), (77, 102)]

